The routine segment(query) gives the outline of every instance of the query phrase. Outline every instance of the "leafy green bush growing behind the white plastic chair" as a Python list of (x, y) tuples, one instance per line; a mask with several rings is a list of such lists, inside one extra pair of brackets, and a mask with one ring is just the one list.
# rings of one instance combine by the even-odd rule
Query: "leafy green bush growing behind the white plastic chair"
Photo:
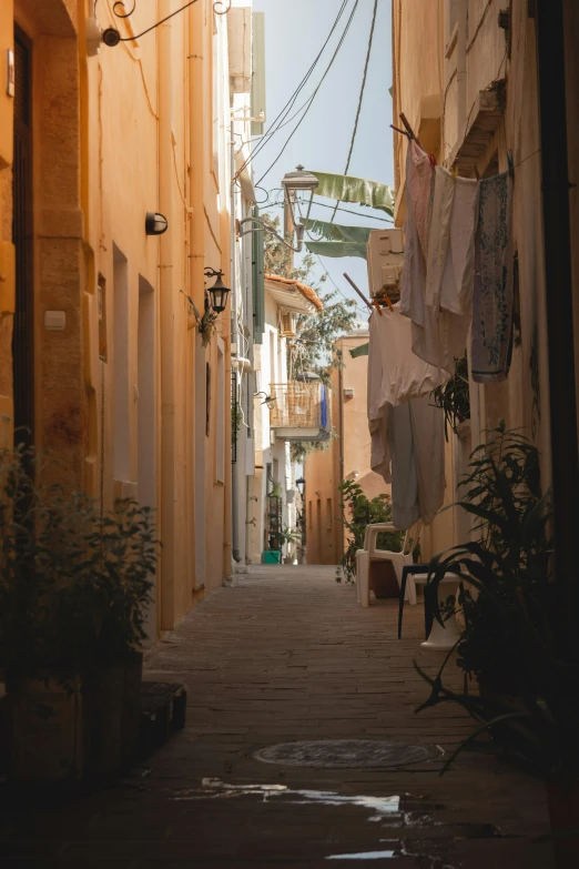
[[(338, 486), (342, 494), (339, 504), (343, 511), (343, 523), (348, 532), (346, 549), (342, 562), (336, 568), (336, 582), (344, 578), (346, 583), (356, 579), (356, 552), (364, 548), (366, 526), (378, 522), (392, 522), (392, 504), (389, 495), (378, 495), (367, 498), (362, 486), (352, 479), (343, 479)], [(403, 534), (400, 532), (384, 532), (378, 534), (377, 546), (383, 549), (399, 552)]]

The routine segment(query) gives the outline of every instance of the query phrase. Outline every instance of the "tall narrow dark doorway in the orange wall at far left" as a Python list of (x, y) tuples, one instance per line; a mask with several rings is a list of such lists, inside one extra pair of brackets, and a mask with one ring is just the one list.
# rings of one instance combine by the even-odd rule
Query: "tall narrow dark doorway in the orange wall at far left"
[(14, 365), (14, 442), (32, 443), (34, 432), (33, 235), (32, 235), (32, 49), (14, 30), (13, 223), (16, 312), (12, 337)]

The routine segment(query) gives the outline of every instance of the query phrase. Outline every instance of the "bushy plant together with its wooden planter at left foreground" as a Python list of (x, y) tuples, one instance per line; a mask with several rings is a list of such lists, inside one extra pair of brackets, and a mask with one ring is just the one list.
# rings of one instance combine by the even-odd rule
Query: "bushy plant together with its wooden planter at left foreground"
[(136, 748), (144, 610), (159, 544), (133, 501), (101, 513), (0, 454), (0, 668), (16, 780), (109, 776)]

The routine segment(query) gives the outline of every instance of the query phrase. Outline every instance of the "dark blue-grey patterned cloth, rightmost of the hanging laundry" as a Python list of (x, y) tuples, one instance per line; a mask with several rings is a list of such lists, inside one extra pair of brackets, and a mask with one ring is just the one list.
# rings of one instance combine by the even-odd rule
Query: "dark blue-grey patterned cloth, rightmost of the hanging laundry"
[(512, 195), (509, 172), (480, 181), (475, 244), (471, 366), (477, 383), (498, 383), (509, 371), (512, 329)]

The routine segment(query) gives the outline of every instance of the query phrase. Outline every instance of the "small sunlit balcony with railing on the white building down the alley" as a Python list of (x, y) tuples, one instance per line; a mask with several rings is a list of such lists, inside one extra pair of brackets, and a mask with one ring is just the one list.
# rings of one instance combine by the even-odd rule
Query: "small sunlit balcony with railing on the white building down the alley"
[(329, 392), (322, 383), (272, 384), (270, 425), (281, 441), (329, 438)]

